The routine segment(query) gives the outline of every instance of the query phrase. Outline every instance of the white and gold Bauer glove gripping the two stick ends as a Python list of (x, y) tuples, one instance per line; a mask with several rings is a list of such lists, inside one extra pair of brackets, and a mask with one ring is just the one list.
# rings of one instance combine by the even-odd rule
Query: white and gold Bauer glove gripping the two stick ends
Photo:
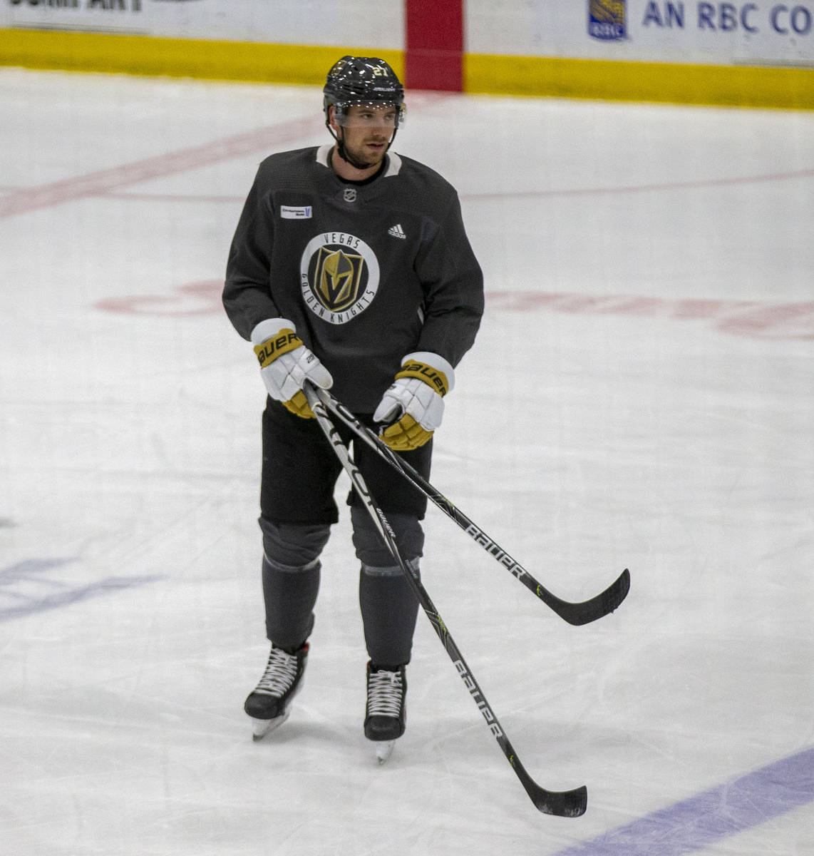
[(297, 416), (313, 419), (303, 392), (305, 380), (321, 389), (330, 389), (333, 377), (304, 346), (294, 324), (287, 318), (267, 318), (251, 331), (251, 343), (260, 360), (260, 377), (268, 395), (282, 401)]

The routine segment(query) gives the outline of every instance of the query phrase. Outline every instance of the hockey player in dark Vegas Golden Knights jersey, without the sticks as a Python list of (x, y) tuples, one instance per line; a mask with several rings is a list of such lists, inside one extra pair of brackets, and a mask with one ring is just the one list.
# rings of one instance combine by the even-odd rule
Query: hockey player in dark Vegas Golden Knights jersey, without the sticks
[[(443, 397), (483, 311), (481, 269), (457, 193), (432, 169), (390, 152), (404, 123), (404, 87), (392, 68), (375, 57), (344, 56), (323, 94), (333, 143), (260, 164), (223, 291), (268, 392), (260, 526), (271, 652), (245, 701), (257, 738), (285, 721), (302, 687), (320, 555), (339, 519), (333, 490), (341, 467), (304, 383), (332, 389), (428, 477)], [(351, 441), (344, 427), (339, 433)], [(353, 454), (417, 574), (426, 498), (393, 478), (364, 443)], [(392, 747), (404, 734), (418, 603), (352, 490), (347, 502), (369, 654), (364, 734)]]

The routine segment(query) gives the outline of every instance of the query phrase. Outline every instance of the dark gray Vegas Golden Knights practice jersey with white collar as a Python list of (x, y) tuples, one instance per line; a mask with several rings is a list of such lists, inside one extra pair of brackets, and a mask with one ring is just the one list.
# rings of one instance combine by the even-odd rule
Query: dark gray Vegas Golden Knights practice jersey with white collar
[(245, 339), (265, 318), (290, 319), (339, 401), (372, 413), (405, 354), (457, 366), (481, 323), (483, 276), (440, 175), (391, 153), (373, 181), (349, 183), (330, 168), (331, 149), (260, 164), (223, 305)]

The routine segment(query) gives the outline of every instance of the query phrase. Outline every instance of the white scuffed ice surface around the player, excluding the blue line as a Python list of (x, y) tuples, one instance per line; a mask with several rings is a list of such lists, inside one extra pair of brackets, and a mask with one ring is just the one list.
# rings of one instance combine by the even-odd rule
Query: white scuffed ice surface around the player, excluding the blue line
[[(814, 746), (814, 114), (410, 98), (395, 148), (458, 188), (488, 292), (433, 482), (562, 597), (633, 577), (569, 627), (428, 511), (425, 585), (529, 773), (587, 784), (569, 820), (422, 616), (375, 763), (346, 514), (251, 740), (264, 393), (218, 281), (319, 91), (0, 84), (4, 856), (553, 856)], [(681, 852), (814, 853), (814, 804)]]

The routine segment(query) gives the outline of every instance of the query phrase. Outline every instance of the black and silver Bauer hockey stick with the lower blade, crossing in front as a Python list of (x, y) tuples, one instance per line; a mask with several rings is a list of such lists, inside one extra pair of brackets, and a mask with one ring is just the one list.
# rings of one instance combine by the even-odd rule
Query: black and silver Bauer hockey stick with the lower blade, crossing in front
[(541, 788), (537, 782), (534, 782), (534, 779), (528, 775), (520, 763), (520, 758), (517, 758), (515, 750), (509, 742), (509, 738), (498, 722), (498, 717), (494, 715), (486, 697), (481, 692), (481, 687), (475, 681), (475, 675), (472, 674), (469, 666), (465, 663), (461, 651), (458, 650), (455, 644), (455, 640), (452, 639), (438, 610), (435, 609), (434, 603), (427, 593), (427, 589), (424, 588), (418, 574), (404, 562), (399, 553), (395, 537), (384, 512), (376, 504), (374, 497), (371, 496), (362, 473), (359, 472), (359, 468), (353, 462), (345, 443), (339, 437), (338, 431), (328, 416), (325, 404), (317, 395), (316, 388), (311, 386), (310, 383), (306, 383), (304, 393), (311, 411), (316, 416), (316, 420), (325, 434), (327, 442), (330, 443), (342, 467), (345, 468), (345, 472), (351, 477), (354, 490), (357, 491), (358, 496), (364, 502), (365, 508), (368, 509), (376, 528), (380, 532), (381, 537), (384, 538), (387, 549), (390, 550), (394, 561), (397, 562), (402, 574), (404, 574), (404, 578), (410, 583), (410, 588), (418, 598), (418, 602), (421, 603), (425, 615), (427, 615), (430, 624), (433, 625), (433, 629), (438, 635), (441, 644), (444, 645), (446, 653), (457, 669), (458, 675), (463, 680), (464, 686), (469, 691), (469, 695), (477, 705), (478, 710), (481, 711), (487, 727), (492, 732), (494, 739), (498, 741), (498, 746), (503, 750), (506, 759), (511, 764), (512, 770), (515, 771), (526, 793), (536, 808), (544, 814), (553, 814), (559, 817), (579, 817), (581, 814), (584, 814), (587, 808), (587, 788), (584, 785), (581, 788), (574, 788), (570, 791), (546, 790), (546, 788)]

